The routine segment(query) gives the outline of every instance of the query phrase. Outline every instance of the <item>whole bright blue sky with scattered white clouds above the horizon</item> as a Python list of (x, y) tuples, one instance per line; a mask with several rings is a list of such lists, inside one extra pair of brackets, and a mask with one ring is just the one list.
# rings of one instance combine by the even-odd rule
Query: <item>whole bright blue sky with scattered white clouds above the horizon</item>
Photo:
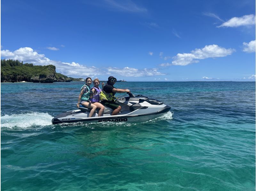
[(255, 1), (2, 0), (1, 58), (77, 78), (255, 81)]

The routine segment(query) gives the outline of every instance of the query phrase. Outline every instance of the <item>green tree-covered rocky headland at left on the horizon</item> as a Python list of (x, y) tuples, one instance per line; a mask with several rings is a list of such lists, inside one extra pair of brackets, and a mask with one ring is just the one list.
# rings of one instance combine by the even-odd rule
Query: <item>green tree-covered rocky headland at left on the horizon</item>
[(52, 83), (56, 81), (82, 81), (82, 78), (71, 78), (61, 73), (56, 73), (54, 65), (33, 65), (19, 60), (1, 59), (1, 82), (41, 82)]

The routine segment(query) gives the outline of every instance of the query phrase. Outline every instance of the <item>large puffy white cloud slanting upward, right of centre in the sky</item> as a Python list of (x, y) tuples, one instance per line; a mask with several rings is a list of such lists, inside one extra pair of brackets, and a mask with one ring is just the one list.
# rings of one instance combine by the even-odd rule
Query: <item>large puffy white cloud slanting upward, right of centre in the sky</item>
[[(191, 63), (197, 63), (200, 59), (206, 58), (214, 58), (214, 57), (225, 57), (231, 55), (235, 50), (234, 49), (225, 49), (223, 47), (219, 47), (216, 44), (206, 45), (203, 49), (195, 49), (190, 53), (178, 53), (175, 57), (173, 57), (174, 61), (172, 64), (165, 63), (161, 64), (161, 66), (169, 66), (169, 65), (181, 65), (185, 66)], [(199, 59), (199, 60), (198, 60)]]

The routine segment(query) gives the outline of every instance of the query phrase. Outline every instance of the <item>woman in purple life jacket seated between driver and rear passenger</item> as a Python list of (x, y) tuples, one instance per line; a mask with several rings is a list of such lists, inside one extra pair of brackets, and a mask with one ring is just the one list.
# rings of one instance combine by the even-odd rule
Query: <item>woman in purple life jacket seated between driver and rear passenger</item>
[[(102, 105), (100, 102), (100, 92), (102, 91), (99, 87), (100, 84), (100, 80), (98, 78), (93, 80), (93, 85), (94, 87), (91, 88), (93, 94), (90, 96), (90, 101), (93, 105), (96, 105), (97, 108), (100, 109), (99, 113), (98, 113), (98, 117), (100, 117), (104, 111), (104, 105)], [(102, 87), (103, 87), (104, 83), (102, 82)]]

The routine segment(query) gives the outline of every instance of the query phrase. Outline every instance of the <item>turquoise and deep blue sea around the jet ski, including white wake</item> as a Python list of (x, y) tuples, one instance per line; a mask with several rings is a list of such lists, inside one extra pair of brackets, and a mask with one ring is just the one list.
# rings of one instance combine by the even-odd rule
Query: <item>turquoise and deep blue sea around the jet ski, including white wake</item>
[(3, 190), (255, 190), (255, 82), (117, 82), (171, 112), (52, 125), (82, 85), (1, 83)]

